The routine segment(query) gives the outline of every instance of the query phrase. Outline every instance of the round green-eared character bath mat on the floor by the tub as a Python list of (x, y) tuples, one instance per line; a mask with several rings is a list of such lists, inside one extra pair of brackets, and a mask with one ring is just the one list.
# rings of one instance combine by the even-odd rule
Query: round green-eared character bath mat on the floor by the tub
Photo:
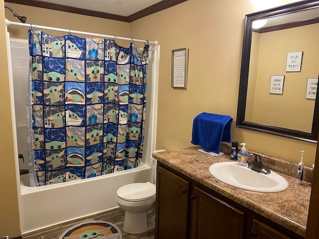
[(122, 239), (120, 229), (109, 222), (89, 221), (66, 230), (59, 239)]

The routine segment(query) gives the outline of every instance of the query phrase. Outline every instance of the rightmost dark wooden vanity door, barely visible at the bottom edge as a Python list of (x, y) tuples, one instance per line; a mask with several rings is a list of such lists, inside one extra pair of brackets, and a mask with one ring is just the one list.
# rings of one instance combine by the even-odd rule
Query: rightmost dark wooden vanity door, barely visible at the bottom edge
[(292, 239), (267, 224), (261, 223), (255, 219), (253, 221), (251, 237), (253, 239)]

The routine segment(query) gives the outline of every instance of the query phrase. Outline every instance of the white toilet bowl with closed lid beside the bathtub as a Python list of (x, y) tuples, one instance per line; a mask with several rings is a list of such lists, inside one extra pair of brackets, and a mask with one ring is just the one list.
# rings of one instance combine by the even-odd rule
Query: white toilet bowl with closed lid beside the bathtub
[(151, 182), (131, 183), (118, 189), (116, 202), (125, 211), (123, 230), (145, 233), (155, 226), (156, 186)]

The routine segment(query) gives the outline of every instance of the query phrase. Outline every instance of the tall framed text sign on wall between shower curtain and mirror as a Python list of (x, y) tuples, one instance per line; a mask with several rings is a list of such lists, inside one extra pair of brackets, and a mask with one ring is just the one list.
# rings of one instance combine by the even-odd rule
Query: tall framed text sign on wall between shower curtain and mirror
[(171, 87), (187, 89), (188, 48), (171, 51)]

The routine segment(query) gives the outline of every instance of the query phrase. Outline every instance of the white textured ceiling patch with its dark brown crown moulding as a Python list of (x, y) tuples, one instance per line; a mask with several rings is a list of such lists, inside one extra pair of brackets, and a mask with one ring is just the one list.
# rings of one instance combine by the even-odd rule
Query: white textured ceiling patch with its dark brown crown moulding
[(186, 0), (4, 0), (17, 4), (132, 22)]

